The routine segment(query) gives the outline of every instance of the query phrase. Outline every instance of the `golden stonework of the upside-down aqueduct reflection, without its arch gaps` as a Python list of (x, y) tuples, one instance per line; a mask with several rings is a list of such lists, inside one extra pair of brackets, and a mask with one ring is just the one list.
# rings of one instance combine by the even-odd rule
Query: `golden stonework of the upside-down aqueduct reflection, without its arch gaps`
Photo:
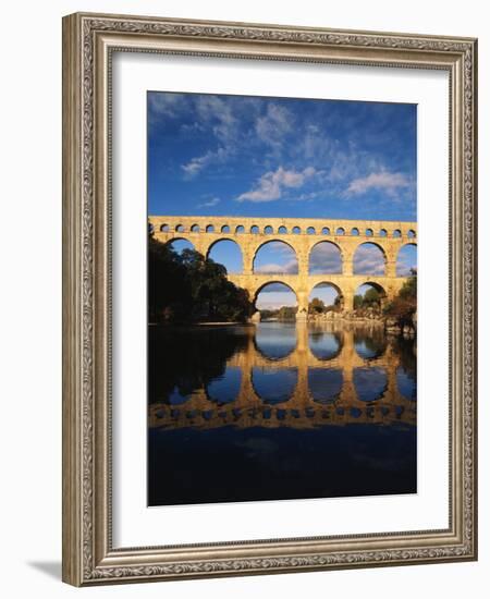
[[(335, 331), (332, 325), (321, 325), (318, 331)], [(340, 351), (328, 359), (315, 356), (309, 346), (310, 328), (305, 323), (297, 327), (296, 347), (282, 359), (266, 357), (254, 343), (254, 329), (248, 329), (248, 343), (243, 353), (235, 354), (226, 366), (241, 370), (241, 384), (236, 398), (224, 405), (217, 404), (203, 387), (196, 389), (179, 406), (154, 403), (149, 406), (148, 426), (150, 428), (219, 428), (232, 425), (238, 428), (260, 426), (279, 428), (314, 428), (331, 424), (392, 425), (394, 423), (415, 426), (417, 403), (403, 396), (399, 389), (396, 371), (401, 365), (400, 356), (390, 345), (373, 358), (360, 357), (355, 349), (354, 331), (351, 328), (338, 331), (341, 340)], [(267, 398), (260, 398), (254, 386), (254, 370), (294, 369), (296, 386), (284, 402), (268, 405)], [(384, 389), (373, 401), (359, 399), (354, 374), (356, 369), (368, 372), (369, 369), (385, 374)], [(333, 369), (342, 372), (342, 388), (336, 396), (327, 403), (317, 402), (309, 386), (309, 372), (317, 369)]]

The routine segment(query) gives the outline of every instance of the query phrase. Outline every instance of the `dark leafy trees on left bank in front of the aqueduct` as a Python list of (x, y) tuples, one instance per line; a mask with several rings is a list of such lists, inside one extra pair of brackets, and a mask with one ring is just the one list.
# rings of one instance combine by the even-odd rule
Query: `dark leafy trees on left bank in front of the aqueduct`
[(148, 241), (148, 310), (151, 322), (245, 321), (248, 293), (226, 279), (226, 269), (194, 249), (181, 255)]

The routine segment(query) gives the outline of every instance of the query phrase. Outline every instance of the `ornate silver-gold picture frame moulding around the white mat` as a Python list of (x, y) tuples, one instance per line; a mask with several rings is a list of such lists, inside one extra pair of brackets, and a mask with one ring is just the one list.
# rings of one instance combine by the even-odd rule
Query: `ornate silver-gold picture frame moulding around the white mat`
[[(111, 543), (111, 52), (450, 73), (450, 526), (154, 548)], [(477, 41), (140, 16), (63, 19), (63, 580), (76, 586), (477, 559)]]

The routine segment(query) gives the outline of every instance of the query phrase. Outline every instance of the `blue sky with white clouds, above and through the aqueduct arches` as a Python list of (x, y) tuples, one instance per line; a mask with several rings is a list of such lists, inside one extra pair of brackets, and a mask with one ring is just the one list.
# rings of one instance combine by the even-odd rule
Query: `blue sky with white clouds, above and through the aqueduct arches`
[[(150, 91), (148, 212), (415, 221), (416, 106)], [(376, 248), (358, 252), (356, 272), (381, 273)], [(210, 257), (242, 269), (232, 242)], [(415, 248), (404, 249), (400, 273), (415, 265)], [(297, 269), (278, 242), (254, 266)], [(340, 271), (331, 244), (311, 255), (310, 271), (322, 268)], [(270, 306), (295, 302), (273, 288), (264, 295)], [(331, 288), (321, 297), (333, 301)]]

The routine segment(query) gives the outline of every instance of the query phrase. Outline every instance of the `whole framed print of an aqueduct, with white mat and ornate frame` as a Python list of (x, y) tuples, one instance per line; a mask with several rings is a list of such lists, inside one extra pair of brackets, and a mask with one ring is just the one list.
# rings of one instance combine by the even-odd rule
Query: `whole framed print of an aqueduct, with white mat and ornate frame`
[(63, 579), (475, 560), (475, 39), (63, 20)]

